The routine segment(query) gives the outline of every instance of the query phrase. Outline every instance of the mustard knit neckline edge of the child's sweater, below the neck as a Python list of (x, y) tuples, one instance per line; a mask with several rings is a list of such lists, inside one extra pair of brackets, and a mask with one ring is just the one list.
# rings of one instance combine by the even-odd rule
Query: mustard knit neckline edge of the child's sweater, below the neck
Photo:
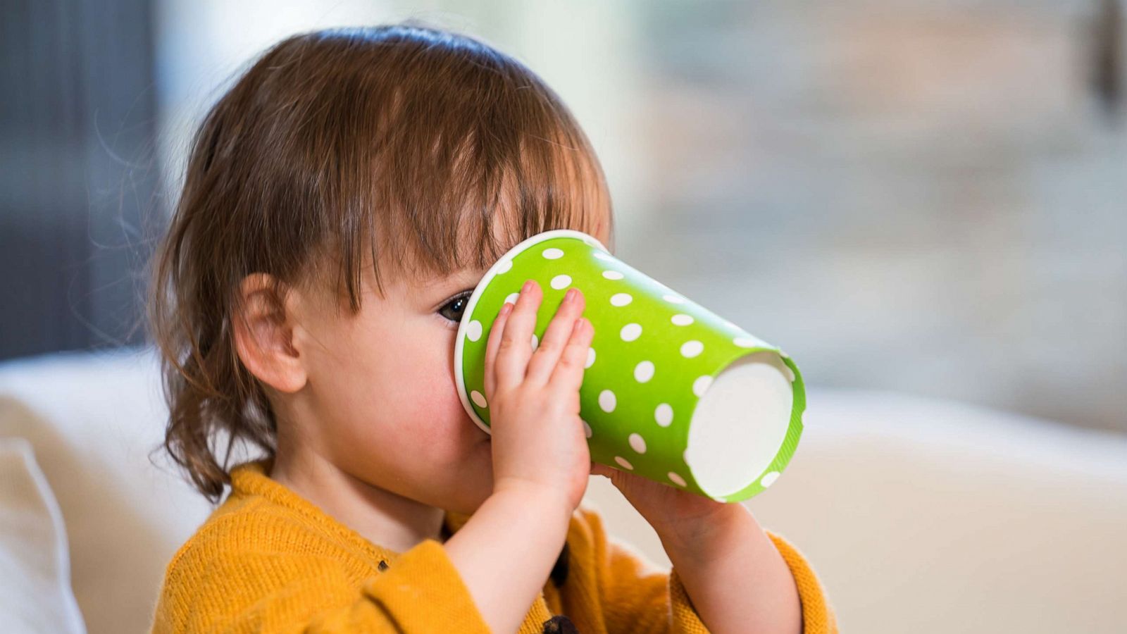
[[(296, 511), (320, 525), (330, 526), (335, 531), (344, 535), (353, 541), (360, 540), (369, 547), (374, 547), (376, 554), (380, 556), (396, 556), (400, 554), (390, 548), (380, 546), (379, 544), (373, 544), (363, 535), (329, 516), (313, 502), (302, 497), (284, 484), (272, 479), (267, 474), (270, 472), (273, 465), (273, 457), (259, 458), (257, 460), (250, 460), (236, 465), (231, 469), (231, 495), (240, 497), (252, 495), (261, 496), (275, 504)], [(447, 510), (443, 516), (443, 525), (446, 532), (453, 535), (462, 528), (469, 519), (469, 514)]]

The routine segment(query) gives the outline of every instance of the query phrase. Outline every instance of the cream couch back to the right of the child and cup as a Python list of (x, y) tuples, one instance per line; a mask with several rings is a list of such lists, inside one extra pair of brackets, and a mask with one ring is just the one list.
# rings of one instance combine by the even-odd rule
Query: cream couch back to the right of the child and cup
[(1124, 631), (1127, 435), (881, 390), (808, 404), (748, 508), (809, 556), (843, 631)]

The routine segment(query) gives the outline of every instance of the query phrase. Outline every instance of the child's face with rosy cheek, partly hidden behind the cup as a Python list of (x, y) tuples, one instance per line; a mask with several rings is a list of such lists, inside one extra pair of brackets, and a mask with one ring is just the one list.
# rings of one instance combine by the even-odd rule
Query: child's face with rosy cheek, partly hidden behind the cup
[(371, 263), (362, 268), (355, 317), (328, 305), (300, 308), (301, 450), (316, 447), (349, 475), (405, 497), (472, 513), (492, 492), (492, 455), (458, 395), (454, 341), (468, 297), (451, 299), (472, 291), (486, 270), (415, 284), (383, 274), (381, 298)]

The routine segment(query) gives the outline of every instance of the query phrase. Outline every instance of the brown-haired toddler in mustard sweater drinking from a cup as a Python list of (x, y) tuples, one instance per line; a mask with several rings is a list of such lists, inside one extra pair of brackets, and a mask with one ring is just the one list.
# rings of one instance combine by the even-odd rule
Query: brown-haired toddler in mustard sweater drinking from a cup
[[(163, 449), (216, 508), (152, 631), (836, 632), (808, 562), (746, 507), (591, 461), (579, 289), (535, 350), (540, 288), (506, 303), (491, 435), (467, 415), (469, 296), (558, 228), (611, 246), (605, 179), (512, 56), (411, 19), (294, 35), (245, 70), (193, 138), (153, 258)], [(232, 465), (236, 444), (261, 456)], [(580, 504), (592, 474), (657, 530), (668, 573)]]

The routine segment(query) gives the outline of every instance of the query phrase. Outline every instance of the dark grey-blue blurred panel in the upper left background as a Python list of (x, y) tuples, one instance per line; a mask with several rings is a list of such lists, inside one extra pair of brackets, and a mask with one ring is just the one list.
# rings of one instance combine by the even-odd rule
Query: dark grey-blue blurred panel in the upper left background
[(150, 25), (148, 0), (3, 3), (0, 359), (143, 340)]

